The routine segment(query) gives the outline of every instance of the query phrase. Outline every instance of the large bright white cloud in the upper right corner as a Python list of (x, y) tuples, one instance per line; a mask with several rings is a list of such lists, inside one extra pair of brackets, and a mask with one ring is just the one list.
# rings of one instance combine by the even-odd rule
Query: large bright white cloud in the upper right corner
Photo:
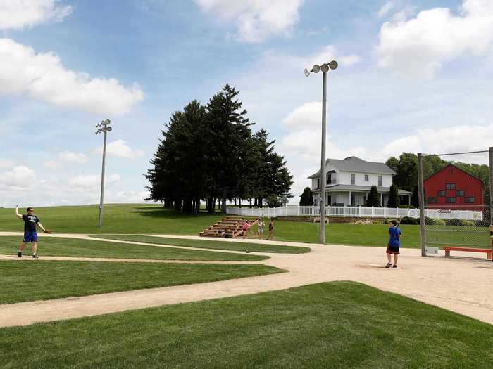
[(449, 8), (432, 8), (407, 21), (384, 23), (378, 65), (431, 78), (447, 60), (468, 53), (484, 55), (492, 44), (493, 1), (463, 0), (461, 15)]

